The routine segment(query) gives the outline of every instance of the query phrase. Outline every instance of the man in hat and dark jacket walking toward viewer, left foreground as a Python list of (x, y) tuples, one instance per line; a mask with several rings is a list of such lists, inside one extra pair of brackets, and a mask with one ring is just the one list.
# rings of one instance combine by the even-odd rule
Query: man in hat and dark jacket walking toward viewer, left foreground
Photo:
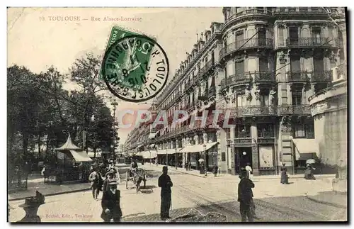
[(120, 190), (117, 189), (117, 180), (111, 179), (108, 191), (103, 192), (101, 218), (106, 222), (113, 219), (114, 223), (120, 222), (122, 209), (120, 208)]

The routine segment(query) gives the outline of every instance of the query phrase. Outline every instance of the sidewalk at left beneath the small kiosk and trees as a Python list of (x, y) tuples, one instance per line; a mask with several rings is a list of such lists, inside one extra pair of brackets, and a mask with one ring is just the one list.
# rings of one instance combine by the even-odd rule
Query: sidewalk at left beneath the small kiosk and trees
[(27, 190), (13, 191), (8, 194), (8, 201), (17, 201), (30, 196), (35, 196), (35, 191), (39, 191), (44, 196), (54, 196), (59, 194), (68, 194), (76, 191), (90, 190), (90, 184), (87, 183), (66, 183), (66, 184), (44, 184), (44, 179), (38, 174), (28, 177)]

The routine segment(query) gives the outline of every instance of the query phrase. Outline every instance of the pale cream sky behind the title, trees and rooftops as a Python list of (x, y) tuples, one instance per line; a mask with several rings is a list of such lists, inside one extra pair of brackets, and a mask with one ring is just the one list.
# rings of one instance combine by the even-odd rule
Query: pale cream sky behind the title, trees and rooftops
[[(141, 19), (103, 21), (105, 17)], [(197, 33), (200, 36), (210, 29), (212, 21), (223, 20), (222, 8), (10, 8), (7, 65), (23, 65), (35, 73), (45, 72), (53, 65), (67, 74), (76, 58), (86, 52), (103, 55), (110, 28), (117, 25), (156, 37), (169, 58), (171, 79), (185, 60), (185, 52), (191, 52)], [(76, 86), (67, 83), (64, 88), (75, 89)], [(113, 96), (109, 91), (106, 94)], [(118, 101), (118, 111), (147, 109), (151, 103)], [(120, 143), (125, 143), (129, 132), (130, 129), (118, 130)]]

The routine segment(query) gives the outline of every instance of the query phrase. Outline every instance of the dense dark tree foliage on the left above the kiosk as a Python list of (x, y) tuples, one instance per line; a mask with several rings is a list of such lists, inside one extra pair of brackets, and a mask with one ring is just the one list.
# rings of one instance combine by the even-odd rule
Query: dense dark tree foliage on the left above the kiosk
[[(55, 67), (40, 74), (18, 65), (8, 67), (7, 138), (11, 162), (49, 157), (69, 133), (82, 146), (84, 130), (88, 133), (87, 147), (109, 149), (114, 120), (99, 93), (105, 90), (104, 82), (98, 79), (99, 67), (100, 58), (91, 54), (76, 60), (67, 76)], [(79, 89), (65, 90), (65, 81), (79, 85)], [(95, 121), (91, 121), (92, 116)]]

